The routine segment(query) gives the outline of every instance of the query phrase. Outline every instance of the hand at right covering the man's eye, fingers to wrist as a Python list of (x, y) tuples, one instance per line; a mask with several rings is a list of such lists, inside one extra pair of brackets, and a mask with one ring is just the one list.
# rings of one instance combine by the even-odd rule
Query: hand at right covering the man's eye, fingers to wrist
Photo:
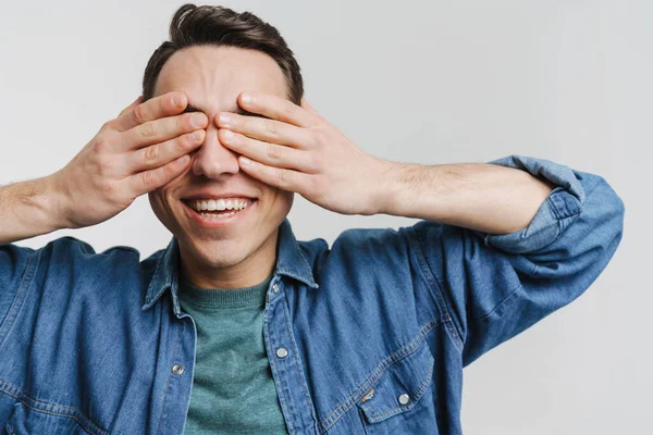
[(264, 117), (221, 112), (214, 122), (220, 127), (220, 142), (242, 154), (238, 164), (248, 175), (296, 191), (336, 213), (381, 212), (382, 182), (391, 162), (356, 147), (306, 99), (297, 105), (272, 95), (247, 91), (237, 100), (245, 111)]

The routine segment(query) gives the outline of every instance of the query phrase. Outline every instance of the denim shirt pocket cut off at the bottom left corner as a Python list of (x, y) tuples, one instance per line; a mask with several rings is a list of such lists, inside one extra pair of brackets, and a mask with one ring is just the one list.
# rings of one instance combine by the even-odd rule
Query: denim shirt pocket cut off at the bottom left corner
[(9, 435), (108, 434), (108, 432), (98, 428), (82, 417), (75, 417), (75, 411), (72, 409), (59, 406), (46, 406), (42, 410), (36, 410), (22, 402), (14, 405), (4, 431)]

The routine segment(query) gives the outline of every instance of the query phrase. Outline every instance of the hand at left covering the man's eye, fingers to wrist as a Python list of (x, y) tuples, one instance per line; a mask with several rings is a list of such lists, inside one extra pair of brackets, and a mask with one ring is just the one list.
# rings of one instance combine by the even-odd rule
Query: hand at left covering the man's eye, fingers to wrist
[(187, 103), (183, 92), (146, 102), (138, 97), (48, 177), (64, 199), (65, 227), (107, 221), (186, 170), (187, 154), (204, 142), (209, 122), (201, 112), (181, 114)]

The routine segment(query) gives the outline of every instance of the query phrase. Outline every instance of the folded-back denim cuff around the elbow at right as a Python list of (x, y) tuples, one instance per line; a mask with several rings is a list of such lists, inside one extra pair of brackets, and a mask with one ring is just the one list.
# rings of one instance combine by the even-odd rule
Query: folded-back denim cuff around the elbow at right
[(538, 178), (547, 179), (556, 187), (542, 202), (526, 228), (509, 234), (489, 234), (471, 229), (483, 239), (485, 246), (513, 253), (532, 252), (552, 244), (578, 217), (586, 200), (586, 191), (570, 167), (544, 159), (516, 154), (488, 163), (527, 171)]

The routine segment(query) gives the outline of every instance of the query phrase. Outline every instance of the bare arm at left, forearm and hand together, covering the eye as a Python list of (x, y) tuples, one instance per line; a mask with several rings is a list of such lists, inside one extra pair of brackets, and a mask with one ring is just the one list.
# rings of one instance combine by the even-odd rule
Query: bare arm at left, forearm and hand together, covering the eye
[(54, 174), (0, 187), (0, 245), (96, 225), (188, 167), (206, 135), (204, 113), (170, 92), (137, 98)]

